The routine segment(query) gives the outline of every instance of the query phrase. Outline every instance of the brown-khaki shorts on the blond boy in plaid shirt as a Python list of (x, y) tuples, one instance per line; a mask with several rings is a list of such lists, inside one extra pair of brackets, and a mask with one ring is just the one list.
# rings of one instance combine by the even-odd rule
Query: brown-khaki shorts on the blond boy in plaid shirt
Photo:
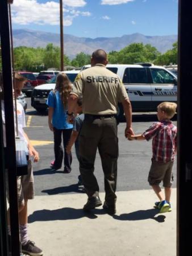
[(157, 162), (152, 159), (151, 168), (149, 171), (149, 185), (159, 185), (161, 181), (163, 186), (170, 188), (173, 184), (173, 161), (168, 163)]

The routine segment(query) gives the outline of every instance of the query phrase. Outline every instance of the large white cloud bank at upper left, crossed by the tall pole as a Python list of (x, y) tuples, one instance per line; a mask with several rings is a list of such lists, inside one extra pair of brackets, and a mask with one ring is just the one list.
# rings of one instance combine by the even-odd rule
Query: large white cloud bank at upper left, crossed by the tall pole
[[(86, 5), (84, 0), (63, 1), (64, 26), (70, 26), (77, 16), (90, 16), (87, 11), (78, 11), (77, 7)], [(39, 3), (37, 0), (16, 0), (11, 5), (12, 23), (15, 24), (39, 24), (39, 25), (59, 25), (60, 24), (60, 4), (49, 1)]]

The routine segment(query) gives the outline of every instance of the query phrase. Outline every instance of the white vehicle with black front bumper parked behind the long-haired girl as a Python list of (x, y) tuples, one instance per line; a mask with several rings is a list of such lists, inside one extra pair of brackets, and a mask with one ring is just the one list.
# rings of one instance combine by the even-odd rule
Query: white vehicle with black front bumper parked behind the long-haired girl
[[(73, 83), (76, 79), (77, 74), (80, 72), (79, 70), (72, 71), (63, 71), (68, 76), (69, 80)], [(55, 89), (56, 77), (52, 77), (52, 79), (47, 84), (38, 85), (34, 88), (31, 94), (31, 106), (34, 107), (37, 112), (45, 113), (48, 108), (47, 97), (51, 90)]]

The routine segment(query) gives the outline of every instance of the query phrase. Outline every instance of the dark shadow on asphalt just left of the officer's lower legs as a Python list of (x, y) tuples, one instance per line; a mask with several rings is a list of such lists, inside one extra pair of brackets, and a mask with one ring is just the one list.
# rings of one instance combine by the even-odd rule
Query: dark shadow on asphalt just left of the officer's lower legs
[(41, 191), (42, 193), (47, 193), (48, 195), (58, 195), (62, 193), (69, 193), (69, 192), (77, 192), (77, 193), (85, 193), (77, 184), (72, 184), (66, 187), (58, 187), (52, 189), (44, 189)]

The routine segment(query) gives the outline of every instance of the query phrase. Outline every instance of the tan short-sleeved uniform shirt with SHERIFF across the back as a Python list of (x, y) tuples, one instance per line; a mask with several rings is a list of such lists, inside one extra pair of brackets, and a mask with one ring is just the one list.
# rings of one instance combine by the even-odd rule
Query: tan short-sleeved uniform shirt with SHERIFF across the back
[(116, 114), (118, 102), (128, 98), (119, 76), (102, 64), (78, 73), (71, 94), (82, 94), (83, 113), (95, 115)]

